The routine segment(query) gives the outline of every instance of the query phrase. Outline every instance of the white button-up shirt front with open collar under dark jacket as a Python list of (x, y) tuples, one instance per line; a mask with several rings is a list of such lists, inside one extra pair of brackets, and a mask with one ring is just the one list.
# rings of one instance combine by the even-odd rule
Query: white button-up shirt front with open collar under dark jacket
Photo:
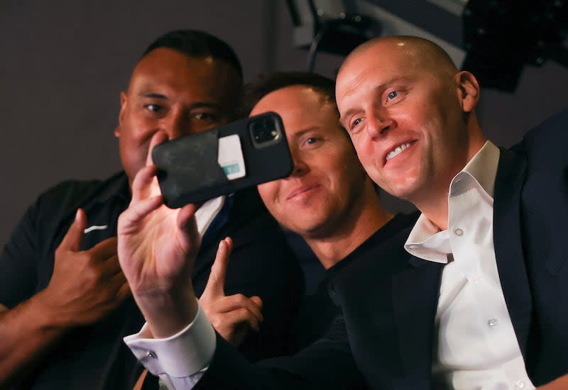
[(534, 389), (507, 311), (493, 248), (493, 188), (499, 150), (491, 142), (452, 179), (448, 229), (423, 214), (405, 249), (446, 264), (436, 313), (432, 374), (448, 389)]

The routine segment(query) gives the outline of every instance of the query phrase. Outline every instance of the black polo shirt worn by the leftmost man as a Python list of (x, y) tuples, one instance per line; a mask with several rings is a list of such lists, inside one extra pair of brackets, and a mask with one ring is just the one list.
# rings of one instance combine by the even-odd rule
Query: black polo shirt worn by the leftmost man
[[(45, 289), (53, 274), (55, 249), (77, 208), (87, 214), (87, 233), (81, 243), (84, 250), (116, 236), (119, 214), (129, 201), (124, 172), (104, 182), (62, 182), (42, 194), (26, 211), (0, 255), (0, 303), (13, 308)], [(209, 230), (216, 231), (207, 231), (207, 242), (195, 261), (192, 279), (196, 294), (201, 294), (207, 282), (217, 243), (231, 235), (234, 252), (227, 270), (227, 294), (259, 295), (265, 307), (268, 303), (267, 333), (251, 338), (244, 350), (254, 360), (277, 355), (280, 346), (266, 341), (284, 332), (280, 327), (288, 326), (293, 316), (302, 292), (300, 267), (256, 189), (235, 194), (212, 225)], [(142, 367), (122, 339), (137, 333), (143, 323), (136, 303), (126, 299), (102, 321), (71, 330), (33, 372), (24, 375), (18, 388), (131, 389)]]

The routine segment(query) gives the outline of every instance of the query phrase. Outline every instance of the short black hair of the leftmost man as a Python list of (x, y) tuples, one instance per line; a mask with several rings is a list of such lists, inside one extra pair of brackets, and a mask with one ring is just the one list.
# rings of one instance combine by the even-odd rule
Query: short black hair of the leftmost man
[(234, 50), (224, 40), (214, 35), (205, 33), (201, 30), (175, 30), (165, 33), (154, 40), (146, 50), (142, 57), (149, 52), (158, 48), (168, 48), (178, 51), (188, 57), (214, 57), (224, 60), (231, 65), (243, 79), (243, 68), (239, 57), (236, 56)]

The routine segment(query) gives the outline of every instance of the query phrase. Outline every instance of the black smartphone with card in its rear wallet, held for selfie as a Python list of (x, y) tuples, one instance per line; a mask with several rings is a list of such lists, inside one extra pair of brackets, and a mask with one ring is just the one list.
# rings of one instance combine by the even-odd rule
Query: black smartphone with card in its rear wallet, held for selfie
[(273, 112), (166, 141), (152, 160), (170, 208), (288, 177), (293, 169), (282, 119)]

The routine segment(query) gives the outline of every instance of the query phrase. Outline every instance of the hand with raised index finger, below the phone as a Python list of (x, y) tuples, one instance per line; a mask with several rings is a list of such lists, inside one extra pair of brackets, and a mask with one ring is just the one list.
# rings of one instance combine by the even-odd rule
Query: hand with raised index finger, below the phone
[(258, 331), (263, 321), (262, 301), (258, 296), (247, 298), (243, 294), (225, 296), (226, 267), (233, 249), (233, 241), (227, 237), (219, 243), (215, 262), (207, 286), (200, 298), (205, 315), (217, 333), (232, 345), (239, 345), (252, 330)]

